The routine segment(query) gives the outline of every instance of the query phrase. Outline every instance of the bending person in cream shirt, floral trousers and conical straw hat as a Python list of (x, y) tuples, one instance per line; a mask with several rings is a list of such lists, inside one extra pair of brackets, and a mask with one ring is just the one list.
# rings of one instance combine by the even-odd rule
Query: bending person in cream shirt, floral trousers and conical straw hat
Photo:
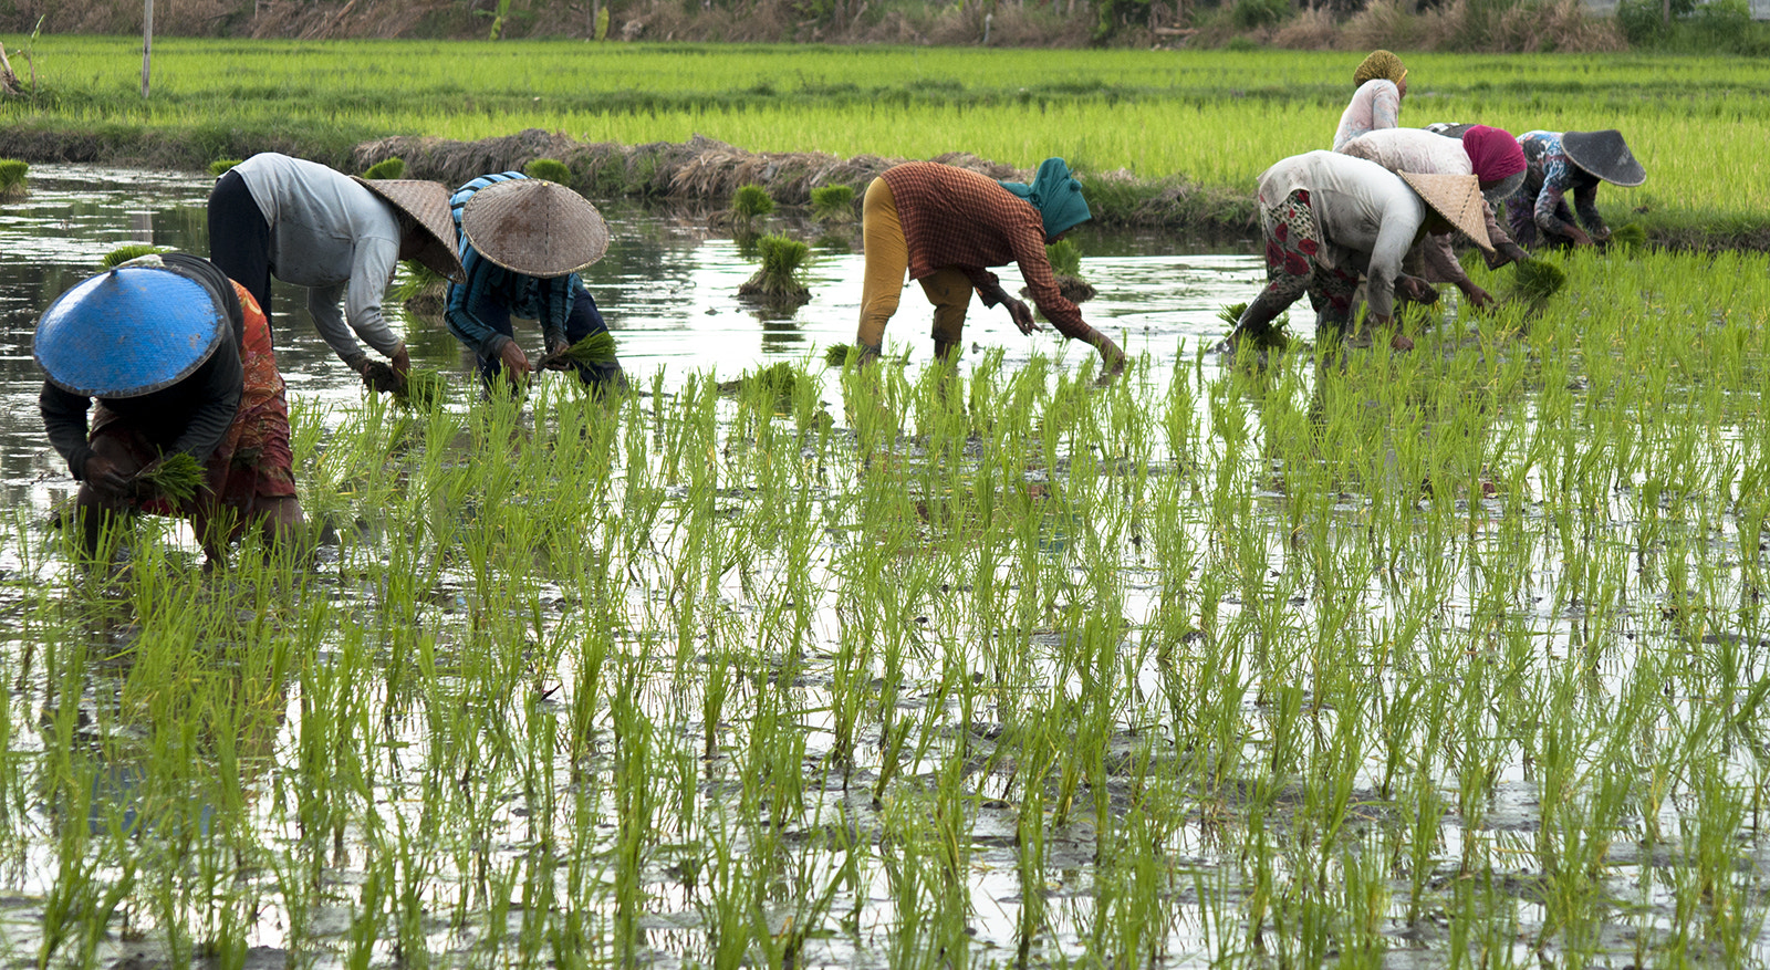
[[(1363, 342), (1368, 331), (1389, 326), (1397, 289), (1430, 301), (1432, 287), (1402, 274), (1402, 257), (1423, 230), (1460, 228), (1487, 248), (1474, 175), (1397, 175), (1361, 158), (1308, 152), (1260, 175), (1258, 205), (1267, 283), (1235, 322), (1230, 347), (1269, 336), (1273, 320), (1304, 292), (1317, 326), (1345, 333), (1361, 273), (1370, 308), (1365, 331), (1356, 335)], [(1414, 343), (1397, 333), (1389, 345), (1409, 350)]]

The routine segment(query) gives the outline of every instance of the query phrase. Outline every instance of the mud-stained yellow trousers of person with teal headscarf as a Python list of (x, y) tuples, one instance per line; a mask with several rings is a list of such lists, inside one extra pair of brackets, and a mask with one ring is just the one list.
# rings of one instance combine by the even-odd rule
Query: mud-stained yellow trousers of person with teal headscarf
[[(897, 312), (903, 296), (903, 278), (910, 269), (910, 246), (903, 239), (897, 204), (885, 179), (873, 179), (860, 204), (860, 235), (866, 246), (867, 269), (860, 283), (860, 331), (855, 342), (881, 350), (885, 324)], [(965, 310), (972, 303), (972, 280), (954, 267), (936, 269), (919, 280), (927, 301), (935, 304), (935, 350), (945, 352), (959, 343), (965, 333)]]

